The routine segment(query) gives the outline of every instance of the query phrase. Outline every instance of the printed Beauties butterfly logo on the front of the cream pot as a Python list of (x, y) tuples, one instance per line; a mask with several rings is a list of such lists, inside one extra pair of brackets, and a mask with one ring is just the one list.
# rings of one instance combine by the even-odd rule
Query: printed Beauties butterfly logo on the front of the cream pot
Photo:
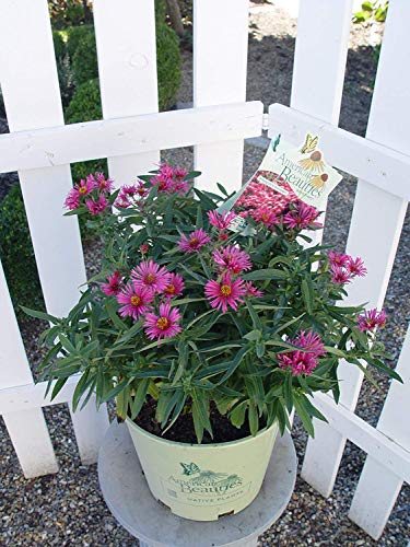
[(164, 490), (169, 498), (190, 505), (218, 505), (244, 496), (250, 487), (238, 475), (201, 469), (191, 462), (180, 462), (179, 475), (172, 475), (164, 481)]

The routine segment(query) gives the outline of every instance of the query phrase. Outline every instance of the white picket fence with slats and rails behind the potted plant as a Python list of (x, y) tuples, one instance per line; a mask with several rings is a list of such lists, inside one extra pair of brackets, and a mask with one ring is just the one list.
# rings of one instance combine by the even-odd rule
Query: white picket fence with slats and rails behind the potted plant
[[(382, 306), (410, 196), (410, 2), (390, 0), (366, 138), (338, 129), (352, 0), (301, 2), (291, 108), (246, 102), (248, 0), (194, 0), (194, 108), (157, 113), (153, 0), (94, 0), (103, 103), (101, 121), (63, 125), (47, 0), (0, 1), (0, 83), (10, 135), (0, 137), (0, 172), (19, 171), (47, 310), (63, 315), (85, 269), (78, 222), (62, 218), (70, 163), (108, 158), (117, 184), (159, 161), (160, 150), (195, 146), (199, 185), (242, 179), (244, 139), (281, 132), (300, 143), (320, 136), (328, 161), (360, 178), (347, 251), (370, 274), (351, 303)], [(58, 465), (42, 407), (68, 403), (71, 379), (52, 403), (34, 385), (0, 268), (0, 412), (25, 477)], [(379, 537), (402, 482), (410, 481), (410, 335), (377, 428), (354, 414), (362, 374), (342, 365), (341, 404), (316, 397), (329, 424), (316, 423), (303, 477), (329, 496), (347, 439), (368, 456), (350, 517)], [(71, 407), (70, 407), (71, 410)], [(108, 426), (90, 404), (71, 414), (80, 455), (94, 462)]]

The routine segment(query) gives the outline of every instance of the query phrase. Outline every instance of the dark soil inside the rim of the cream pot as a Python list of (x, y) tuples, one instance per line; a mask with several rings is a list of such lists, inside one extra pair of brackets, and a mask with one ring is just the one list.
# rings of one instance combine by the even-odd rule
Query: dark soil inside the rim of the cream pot
[[(195, 434), (191, 414), (181, 414), (174, 426), (164, 434), (162, 434), (160, 423), (155, 420), (155, 410), (156, 401), (149, 397), (141, 408), (140, 414), (133, 421), (137, 423), (137, 426), (144, 429), (149, 433), (162, 439), (181, 443), (198, 443), (197, 437)], [(238, 441), (239, 439), (244, 439), (245, 437), (250, 435), (249, 426), (246, 419), (242, 428), (235, 428), (234, 426), (232, 426), (226, 416), (222, 416), (218, 411), (215, 405), (212, 403), (210, 406), (210, 421), (212, 426), (213, 439), (208, 432), (204, 432), (202, 444)], [(261, 420), (260, 429), (262, 429), (265, 426), (266, 423), (263, 423), (263, 421)]]

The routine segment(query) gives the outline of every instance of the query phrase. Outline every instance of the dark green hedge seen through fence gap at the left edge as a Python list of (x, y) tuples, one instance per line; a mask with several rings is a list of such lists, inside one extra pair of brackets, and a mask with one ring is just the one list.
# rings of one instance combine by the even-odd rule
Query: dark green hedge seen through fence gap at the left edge
[(24, 319), (20, 305), (44, 310), (44, 301), (19, 184), (0, 203), (0, 255), (11, 299), (19, 319)]

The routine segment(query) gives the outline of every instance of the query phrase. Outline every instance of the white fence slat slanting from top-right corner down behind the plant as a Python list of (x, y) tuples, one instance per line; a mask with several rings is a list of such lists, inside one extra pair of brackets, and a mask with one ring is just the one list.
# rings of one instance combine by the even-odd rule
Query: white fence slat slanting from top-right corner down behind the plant
[[(410, 4), (390, 2), (366, 132), (368, 139), (402, 153), (410, 147), (410, 136), (406, 129), (410, 123), (410, 74), (402, 71), (410, 56), (410, 36), (402, 24), (408, 16)], [(393, 84), (397, 81), (400, 81), (400, 85)], [(359, 182), (347, 252), (362, 256), (368, 274), (366, 278), (352, 283), (347, 305), (353, 302), (368, 302), (368, 307), (383, 305), (406, 208), (403, 199), (363, 181)], [(341, 363), (340, 377), (340, 400), (353, 410), (363, 375), (352, 365)], [(316, 437), (308, 442), (302, 476), (324, 496), (329, 496), (345, 438), (326, 424), (315, 423), (315, 428)], [(320, 473), (317, 473), (318, 469)], [(384, 493), (378, 492), (377, 497), (382, 498)], [(377, 503), (375, 496), (373, 492), (373, 503)]]

